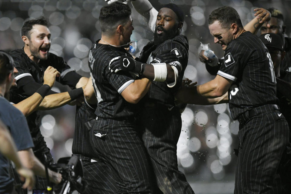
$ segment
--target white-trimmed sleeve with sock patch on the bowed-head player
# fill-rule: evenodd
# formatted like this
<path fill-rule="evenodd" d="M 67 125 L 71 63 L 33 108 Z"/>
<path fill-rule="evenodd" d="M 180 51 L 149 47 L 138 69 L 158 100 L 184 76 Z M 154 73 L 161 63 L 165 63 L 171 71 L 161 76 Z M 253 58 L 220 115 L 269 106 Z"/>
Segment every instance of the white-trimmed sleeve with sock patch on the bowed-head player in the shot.
<path fill-rule="evenodd" d="M 240 72 L 244 68 L 243 65 L 249 52 L 250 51 L 247 49 L 246 45 L 232 41 L 225 51 L 224 61 L 222 62 L 217 75 L 236 81 L 241 76 Z"/>

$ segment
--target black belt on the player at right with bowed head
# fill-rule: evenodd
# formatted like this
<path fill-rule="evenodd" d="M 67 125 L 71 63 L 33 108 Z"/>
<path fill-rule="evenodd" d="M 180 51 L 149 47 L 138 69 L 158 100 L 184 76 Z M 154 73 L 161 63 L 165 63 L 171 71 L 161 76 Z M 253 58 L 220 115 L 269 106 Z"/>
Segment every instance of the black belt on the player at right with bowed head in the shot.
<path fill-rule="evenodd" d="M 273 110 L 280 110 L 280 108 L 276 104 L 266 104 L 266 105 L 259 106 L 259 107 L 256 107 L 244 112 L 243 114 L 239 115 L 238 120 L 240 123 L 242 123 L 251 119 L 252 117 L 258 114 L 267 114 Z"/>

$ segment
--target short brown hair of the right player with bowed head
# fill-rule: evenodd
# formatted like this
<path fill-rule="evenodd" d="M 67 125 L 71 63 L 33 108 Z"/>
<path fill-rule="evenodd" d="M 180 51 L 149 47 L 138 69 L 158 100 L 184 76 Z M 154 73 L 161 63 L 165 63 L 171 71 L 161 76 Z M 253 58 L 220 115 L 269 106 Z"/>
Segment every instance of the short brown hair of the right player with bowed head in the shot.
<path fill-rule="evenodd" d="M 238 12 L 229 6 L 219 7 L 211 12 L 208 18 L 208 25 L 218 20 L 223 28 L 230 28 L 235 23 L 239 28 L 243 27 Z"/>

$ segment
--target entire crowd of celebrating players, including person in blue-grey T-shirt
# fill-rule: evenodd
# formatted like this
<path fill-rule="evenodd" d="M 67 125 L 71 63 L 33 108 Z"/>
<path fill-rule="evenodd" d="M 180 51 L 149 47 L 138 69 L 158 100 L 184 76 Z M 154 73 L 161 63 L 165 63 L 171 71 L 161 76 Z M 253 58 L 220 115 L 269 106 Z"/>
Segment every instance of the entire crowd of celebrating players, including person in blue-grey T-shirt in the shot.
<path fill-rule="evenodd" d="M 200 52 L 216 77 L 196 86 L 182 80 L 189 50 L 183 11 L 172 3 L 157 11 L 148 0 L 123 2 L 108 1 L 100 10 L 102 36 L 89 52 L 90 78 L 49 53 L 45 18 L 24 23 L 22 49 L 0 51 L 0 193 L 46 189 L 43 164 L 53 158 L 39 111 L 65 104 L 77 105 L 72 152 L 84 167 L 82 193 L 194 193 L 178 170 L 177 102 L 229 103 L 240 123 L 234 193 L 288 193 L 291 42 L 282 13 L 257 8 L 243 26 L 234 8 L 212 11 L 209 31 L 225 55 L 212 67 Z M 154 32 L 138 58 L 127 49 L 134 30 L 129 2 Z M 72 90 L 52 91 L 55 80 Z M 57 172 L 48 175 L 62 181 Z"/>

